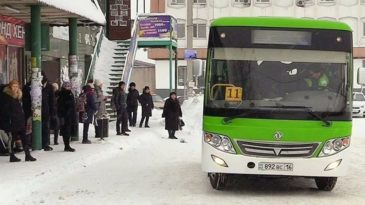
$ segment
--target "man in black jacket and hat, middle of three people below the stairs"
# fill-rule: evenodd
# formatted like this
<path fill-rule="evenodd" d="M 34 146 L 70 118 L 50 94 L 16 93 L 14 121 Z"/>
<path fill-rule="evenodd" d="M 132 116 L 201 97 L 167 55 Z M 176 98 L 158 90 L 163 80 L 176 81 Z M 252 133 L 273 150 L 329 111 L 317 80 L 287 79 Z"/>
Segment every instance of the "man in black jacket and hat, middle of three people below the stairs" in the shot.
<path fill-rule="evenodd" d="M 127 111 L 128 111 L 128 121 L 130 127 L 135 127 L 137 124 L 137 109 L 139 92 L 135 89 L 136 84 L 131 82 L 128 88 L 127 94 Z"/>

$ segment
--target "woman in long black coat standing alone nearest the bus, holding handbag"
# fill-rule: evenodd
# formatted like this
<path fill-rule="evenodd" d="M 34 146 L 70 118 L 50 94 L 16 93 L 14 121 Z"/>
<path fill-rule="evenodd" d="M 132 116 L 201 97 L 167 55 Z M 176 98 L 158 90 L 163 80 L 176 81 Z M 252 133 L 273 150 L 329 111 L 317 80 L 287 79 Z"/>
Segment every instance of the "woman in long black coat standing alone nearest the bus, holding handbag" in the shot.
<path fill-rule="evenodd" d="M 176 130 L 179 130 L 179 117 L 183 116 L 180 102 L 176 98 L 176 93 L 170 93 L 170 97 L 165 101 L 162 117 L 165 117 L 165 129 L 169 132 L 169 139 L 175 137 Z"/>

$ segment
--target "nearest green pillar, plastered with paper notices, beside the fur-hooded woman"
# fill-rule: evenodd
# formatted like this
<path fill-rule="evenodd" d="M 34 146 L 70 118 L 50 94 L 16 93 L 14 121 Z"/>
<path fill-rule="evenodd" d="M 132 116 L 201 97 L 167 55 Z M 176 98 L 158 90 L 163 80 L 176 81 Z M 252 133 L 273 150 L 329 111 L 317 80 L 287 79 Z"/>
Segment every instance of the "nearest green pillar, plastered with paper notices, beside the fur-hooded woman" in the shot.
<path fill-rule="evenodd" d="M 41 52 L 41 6 L 30 6 L 31 21 L 31 96 L 32 96 L 32 150 L 42 149 L 42 52 Z"/>

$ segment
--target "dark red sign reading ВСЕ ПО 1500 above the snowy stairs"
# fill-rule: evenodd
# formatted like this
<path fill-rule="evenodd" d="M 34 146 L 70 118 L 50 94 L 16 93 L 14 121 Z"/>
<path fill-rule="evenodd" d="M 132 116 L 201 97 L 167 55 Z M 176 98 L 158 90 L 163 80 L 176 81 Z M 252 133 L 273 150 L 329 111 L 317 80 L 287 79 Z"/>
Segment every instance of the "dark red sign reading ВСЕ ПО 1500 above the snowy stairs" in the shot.
<path fill-rule="evenodd" d="M 131 0 L 107 0 L 107 38 L 131 38 Z"/>

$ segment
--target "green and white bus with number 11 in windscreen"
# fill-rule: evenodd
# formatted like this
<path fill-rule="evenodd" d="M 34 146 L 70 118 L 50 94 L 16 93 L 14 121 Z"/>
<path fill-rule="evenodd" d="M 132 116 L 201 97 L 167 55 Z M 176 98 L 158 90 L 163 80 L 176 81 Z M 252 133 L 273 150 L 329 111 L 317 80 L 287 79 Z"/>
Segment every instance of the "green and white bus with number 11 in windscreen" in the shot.
<path fill-rule="evenodd" d="M 195 73 L 201 60 L 193 62 Z M 364 84 L 365 68 L 358 82 Z M 362 74 L 362 76 L 361 76 Z M 212 22 L 205 68 L 202 169 L 307 177 L 330 191 L 350 163 L 353 58 L 342 22 L 224 17 Z"/>

